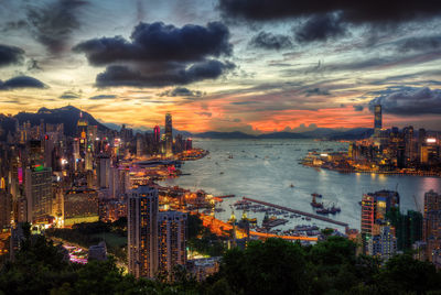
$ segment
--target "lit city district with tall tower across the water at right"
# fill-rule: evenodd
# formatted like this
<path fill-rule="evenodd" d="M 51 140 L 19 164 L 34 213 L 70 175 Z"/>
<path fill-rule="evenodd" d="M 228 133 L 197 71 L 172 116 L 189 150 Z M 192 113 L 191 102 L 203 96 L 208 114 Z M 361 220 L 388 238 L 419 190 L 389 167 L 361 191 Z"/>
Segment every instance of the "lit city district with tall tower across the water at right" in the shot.
<path fill-rule="evenodd" d="M 351 142 L 347 153 L 311 151 L 304 164 L 341 172 L 441 175 L 440 134 L 413 127 L 383 128 L 381 106 L 375 106 L 374 133 Z"/>

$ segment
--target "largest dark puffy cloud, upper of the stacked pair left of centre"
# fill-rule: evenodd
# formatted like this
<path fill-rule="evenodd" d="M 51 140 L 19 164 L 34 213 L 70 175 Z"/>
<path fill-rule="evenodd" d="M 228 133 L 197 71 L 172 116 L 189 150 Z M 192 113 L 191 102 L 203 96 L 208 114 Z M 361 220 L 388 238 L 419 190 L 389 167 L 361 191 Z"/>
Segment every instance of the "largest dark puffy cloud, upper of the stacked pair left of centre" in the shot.
<path fill-rule="evenodd" d="M 195 62 L 206 56 L 230 55 L 229 31 L 219 22 L 207 26 L 187 24 L 183 28 L 162 22 L 140 23 L 130 36 L 93 39 L 79 43 L 75 52 L 85 53 L 92 65 L 117 62 Z"/>

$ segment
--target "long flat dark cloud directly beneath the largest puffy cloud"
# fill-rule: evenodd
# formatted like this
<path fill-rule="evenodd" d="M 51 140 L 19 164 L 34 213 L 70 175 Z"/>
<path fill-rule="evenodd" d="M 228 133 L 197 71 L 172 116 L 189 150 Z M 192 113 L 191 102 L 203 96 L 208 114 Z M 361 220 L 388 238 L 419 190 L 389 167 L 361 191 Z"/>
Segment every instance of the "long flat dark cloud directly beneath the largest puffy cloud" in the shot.
<path fill-rule="evenodd" d="M 141 72 L 128 66 L 112 65 L 98 74 L 98 87 L 133 86 L 133 87 L 162 87 L 168 85 L 185 85 L 204 79 L 215 79 L 235 66 L 219 61 L 205 61 L 185 68 L 185 64 L 175 65 L 159 72 Z"/>

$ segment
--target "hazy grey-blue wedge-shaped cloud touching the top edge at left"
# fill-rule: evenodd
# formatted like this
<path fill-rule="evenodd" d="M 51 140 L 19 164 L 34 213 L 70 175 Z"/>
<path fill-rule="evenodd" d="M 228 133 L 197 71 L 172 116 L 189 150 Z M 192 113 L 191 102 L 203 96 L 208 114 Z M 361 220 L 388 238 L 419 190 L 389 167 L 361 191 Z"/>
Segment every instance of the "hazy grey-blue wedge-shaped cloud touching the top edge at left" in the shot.
<path fill-rule="evenodd" d="M 28 7 L 28 22 L 35 39 L 51 53 L 65 50 L 72 33 L 80 26 L 78 13 L 88 4 L 82 0 L 55 0 L 49 4 Z"/>

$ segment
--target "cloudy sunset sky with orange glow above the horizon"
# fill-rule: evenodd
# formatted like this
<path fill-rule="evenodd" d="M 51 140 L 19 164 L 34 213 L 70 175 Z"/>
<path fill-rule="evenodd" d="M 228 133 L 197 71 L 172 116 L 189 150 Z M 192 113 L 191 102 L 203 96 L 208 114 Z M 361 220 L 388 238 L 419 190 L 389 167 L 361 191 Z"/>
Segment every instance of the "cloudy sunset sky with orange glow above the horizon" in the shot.
<path fill-rule="evenodd" d="M 372 128 L 380 103 L 441 130 L 439 28 L 430 0 L 0 0 L 0 108 L 261 133 Z"/>

